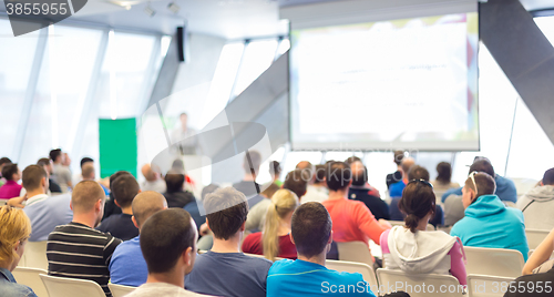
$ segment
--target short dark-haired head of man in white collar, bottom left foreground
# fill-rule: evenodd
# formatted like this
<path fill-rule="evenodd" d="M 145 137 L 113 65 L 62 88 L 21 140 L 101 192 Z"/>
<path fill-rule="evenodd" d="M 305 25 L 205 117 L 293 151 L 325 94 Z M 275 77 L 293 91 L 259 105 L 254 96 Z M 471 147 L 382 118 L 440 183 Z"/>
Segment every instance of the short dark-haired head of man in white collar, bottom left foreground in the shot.
<path fill-rule="evenodd" d="M 187 248 L 195 248 L 196 228 L 183 208 L 157 212 L 141 228 L 141 250 L 148 273 L 167 273 Z"/>

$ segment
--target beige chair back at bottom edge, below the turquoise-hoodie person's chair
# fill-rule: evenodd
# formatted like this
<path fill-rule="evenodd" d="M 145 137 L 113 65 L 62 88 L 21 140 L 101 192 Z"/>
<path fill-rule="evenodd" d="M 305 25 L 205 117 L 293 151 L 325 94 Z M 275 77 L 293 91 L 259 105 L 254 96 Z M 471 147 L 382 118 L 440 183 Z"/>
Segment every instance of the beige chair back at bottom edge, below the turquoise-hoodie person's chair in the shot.
<path fill-rule="evenodd" d="M 503 297 L 510 288 L 512 277 L 468 275 L 469 297 Z"/>

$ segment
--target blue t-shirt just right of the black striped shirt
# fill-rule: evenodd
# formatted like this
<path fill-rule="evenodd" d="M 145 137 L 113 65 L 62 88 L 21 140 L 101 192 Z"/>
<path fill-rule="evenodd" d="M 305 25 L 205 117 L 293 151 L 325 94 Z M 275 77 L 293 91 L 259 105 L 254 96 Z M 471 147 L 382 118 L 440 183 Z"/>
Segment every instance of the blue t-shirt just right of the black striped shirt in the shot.
<path fill-rule="evenodd" d="M 148 267 L 142 255 L 140 236 L 115 248 L 107 269 L 112 284 L 138 287 L 146 283 Z"/>

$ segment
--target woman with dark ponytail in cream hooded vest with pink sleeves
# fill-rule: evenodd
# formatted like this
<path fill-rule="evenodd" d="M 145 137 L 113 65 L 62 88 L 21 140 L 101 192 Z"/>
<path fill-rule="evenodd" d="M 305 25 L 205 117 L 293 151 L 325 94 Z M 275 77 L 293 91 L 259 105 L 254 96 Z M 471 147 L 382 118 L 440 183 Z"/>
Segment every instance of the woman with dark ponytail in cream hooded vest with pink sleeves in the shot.
<path fill-rule="evenodd" d="M 428 181 L 408 183 L 399 202 L 407 214 L 404 226 L 394 226 L 381 235 L 384 267 L 409 274 L 451 274 L 466 285 L 462 243 L 442 231 L 427 231 L 437 212 L 435 203 Z"/>

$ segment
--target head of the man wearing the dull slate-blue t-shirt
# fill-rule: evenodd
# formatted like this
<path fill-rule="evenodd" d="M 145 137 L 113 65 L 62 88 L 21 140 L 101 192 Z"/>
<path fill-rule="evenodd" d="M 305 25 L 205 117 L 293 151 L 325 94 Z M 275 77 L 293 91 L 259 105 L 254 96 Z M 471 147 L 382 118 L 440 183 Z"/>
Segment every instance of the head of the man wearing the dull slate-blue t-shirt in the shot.
<path fill-rule="evenodd" d="M 217 239 L 233 237 L 246 222 L 248 202 L 246 196 L 234 187 L 223 187 L 204 198 L 204 209 L 209 229 Z"/>

